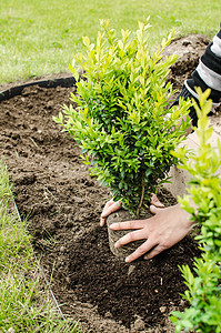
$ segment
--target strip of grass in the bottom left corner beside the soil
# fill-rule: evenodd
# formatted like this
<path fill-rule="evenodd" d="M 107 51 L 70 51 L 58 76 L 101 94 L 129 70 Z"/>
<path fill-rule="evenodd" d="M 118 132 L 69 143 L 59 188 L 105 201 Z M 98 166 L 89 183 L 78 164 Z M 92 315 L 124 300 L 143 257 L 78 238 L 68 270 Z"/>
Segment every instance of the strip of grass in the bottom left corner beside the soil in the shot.
<path fill-rule="evenodd" d="M 42 272 L 26 221 L 13 210 L 10 189 L 7 169 L 0 162 L 0 332 L 82 332 L 76 322 L 62 321 L 49 289 L 42 287 Z"/>

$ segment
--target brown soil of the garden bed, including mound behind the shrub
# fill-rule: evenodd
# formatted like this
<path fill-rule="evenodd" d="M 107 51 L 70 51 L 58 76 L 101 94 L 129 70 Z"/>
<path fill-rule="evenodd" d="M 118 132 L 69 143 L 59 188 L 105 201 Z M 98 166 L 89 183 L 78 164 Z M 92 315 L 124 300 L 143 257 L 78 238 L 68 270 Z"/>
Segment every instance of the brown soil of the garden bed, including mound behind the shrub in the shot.
<path fill-rule="evenodd" d="M 170 80 L 180 89 L 208 39 L 174 41 L 181 57 Z M 185 290 L 179 264 L 199 255 L 189 235 L 150 261 L 127 264 L 109 249 L 99 226 L 107 189 L 91 179 L 80 149 L 52 121 L 74 88 L 26 88 L 0 103 L 0 152 L 14 183 L 16 202 L 28 216 L 33 246 L 66 316 L 87 332 L 173 332 L 168 314 L 182 310 Z M 50 279 L 52 276 L 52 279 Z"/>

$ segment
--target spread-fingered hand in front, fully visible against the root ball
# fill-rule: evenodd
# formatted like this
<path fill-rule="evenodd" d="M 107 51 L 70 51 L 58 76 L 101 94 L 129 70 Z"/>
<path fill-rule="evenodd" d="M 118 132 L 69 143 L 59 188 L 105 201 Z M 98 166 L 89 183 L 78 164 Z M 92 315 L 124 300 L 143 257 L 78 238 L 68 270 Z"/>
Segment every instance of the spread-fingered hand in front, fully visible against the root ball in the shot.
<path fill-rule="evenodd" d="M 180 208 L 180 204 L 169 208 L 151 205 L 150 211 L 154 215 L 148 220 L 134 220 L 110 225 L 111 230 L 135 230 L 122 236 L 115 243 L 117 248 L 138 240 L 145 240 L 141 246 L 125 259 L 127 262 L 131 262 L 141 255 L 144 255 L 144 259 L 151 259 L 173 246 L 189 233 L 193 224 L 189 221 L 189 214 Z"/>

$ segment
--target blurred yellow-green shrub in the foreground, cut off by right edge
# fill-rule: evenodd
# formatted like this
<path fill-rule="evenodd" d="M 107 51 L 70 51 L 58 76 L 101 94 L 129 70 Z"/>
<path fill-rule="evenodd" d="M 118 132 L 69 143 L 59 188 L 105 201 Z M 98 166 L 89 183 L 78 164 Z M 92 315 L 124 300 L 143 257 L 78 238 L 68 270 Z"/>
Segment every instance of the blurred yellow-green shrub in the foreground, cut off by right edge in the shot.
<path fill-rule="evenodd" d="M 194 272 L 188 265 L 181 268 L 188 286 L 183 297 L 189 301 L 190 307 L 183 313 L 173 312 L 172 322 L 177 332 L 183 329 L 185 332 L 221 332 L 221 142 L 218 140 L 217 149 L 210 143 L 213 129 L 207 117 L 212 105 L 210 100 L 207 101 L 209 93 L 198 90 L 198 153 L 187 160 L 185 149 L 179 148 L 175 152 L 182 162 L 181 168 L 192 175 L 189 195 L 179 201 L 201 228 L 195 239 L 202 249 L 202 256 L 194 261 Z M 197 209 L 190 206 L 190 200 Z"/>

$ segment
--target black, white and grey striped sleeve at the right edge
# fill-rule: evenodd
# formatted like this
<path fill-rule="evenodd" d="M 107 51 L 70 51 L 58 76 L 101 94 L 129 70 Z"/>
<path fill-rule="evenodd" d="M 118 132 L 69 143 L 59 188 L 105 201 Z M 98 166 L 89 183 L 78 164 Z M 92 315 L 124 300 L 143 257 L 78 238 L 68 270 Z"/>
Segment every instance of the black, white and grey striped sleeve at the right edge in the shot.
<path fill-rule="evenodd" d="M 187 100 L 194 98 L 198 101 L 198 94 L 194 87 L 200 87 L 202 91 L 211 89 L 210 99 L 212 100 L 212 109 L 220 105 L 221 100 L 221 30 L 213 38 L 212 42 L 207 47 L 205 52 L 199 60 L 197 69 L 192 73 L 192 78 L 188 79 L 173 102 L 178 104 L 179 98 Z M 212 110 L 211 110 L 212 111 Z M 198 118 L 194 108 L 190 108 L 190 117 L 192 124 L 197 125 Z"/>

